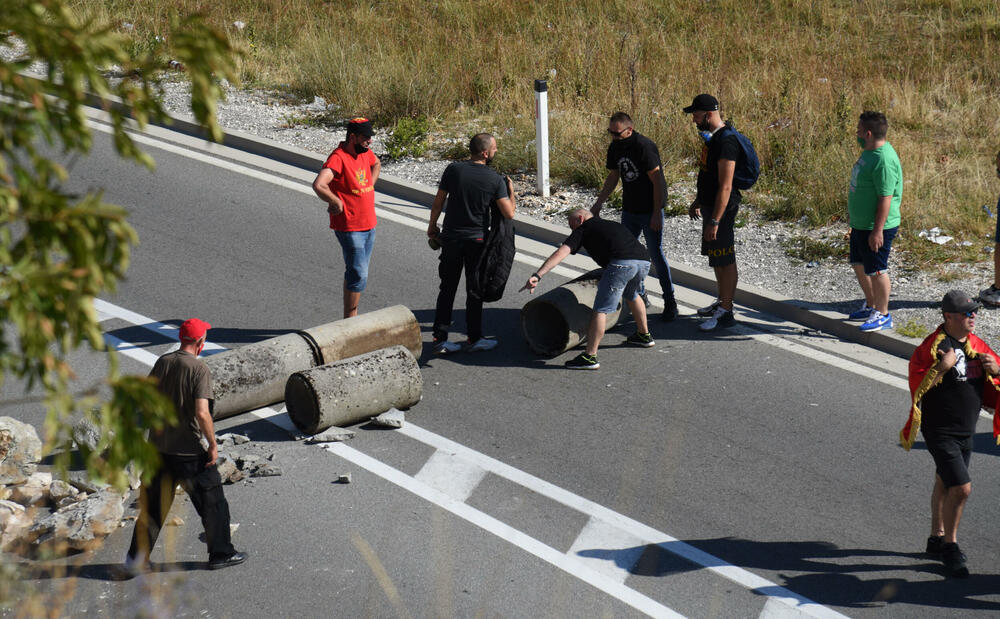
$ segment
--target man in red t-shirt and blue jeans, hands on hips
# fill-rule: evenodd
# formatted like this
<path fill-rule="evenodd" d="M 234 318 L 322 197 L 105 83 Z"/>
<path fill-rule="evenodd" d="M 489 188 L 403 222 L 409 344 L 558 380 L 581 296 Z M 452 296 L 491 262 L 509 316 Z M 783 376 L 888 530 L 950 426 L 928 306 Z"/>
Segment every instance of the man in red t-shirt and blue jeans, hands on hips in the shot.
<path fill-rule="evenodd" d="M 344 318 L 358 315 L 375 244 L 375 181 L 382 164 L 370 150 L 373 134 L 370 120 L 352 118 L 347 138 L 313 181 L 313 191 L 327 204 L 330 228 L 344 254 Z"/>

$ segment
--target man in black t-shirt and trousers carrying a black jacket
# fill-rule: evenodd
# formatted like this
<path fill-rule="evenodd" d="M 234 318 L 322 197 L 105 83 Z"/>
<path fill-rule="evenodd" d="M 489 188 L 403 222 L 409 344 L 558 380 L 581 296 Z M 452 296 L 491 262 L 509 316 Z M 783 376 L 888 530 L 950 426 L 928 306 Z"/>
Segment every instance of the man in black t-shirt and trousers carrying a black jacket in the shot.
<path fill-rule="evenodd" d="M 465 269 L 465 322 L 468 327 L 469 350 L 490 350 L 497 340 L 483 337 L 483 301 L 470 294 L 470 277 L 483 253 L 490 227 L 490 206 L 497 205 L 501 215 L 514 218 L 514 185 L 489 167 L 497 152 L 497 141 L 489 133 L 480 133 L 469 141 L 471 157 L 456 161 L 445 168 L 438 192 L 431 206 L 427 237 L 441 244 L 438 275 L 441 287 L 434 310 L 434 352 L 448 354 L 461 350 L 458 342 L 448 341 L 451 312 L 455 304 L 458 282 Z M 441 211 L 444 231 L 437 225 Z"/>

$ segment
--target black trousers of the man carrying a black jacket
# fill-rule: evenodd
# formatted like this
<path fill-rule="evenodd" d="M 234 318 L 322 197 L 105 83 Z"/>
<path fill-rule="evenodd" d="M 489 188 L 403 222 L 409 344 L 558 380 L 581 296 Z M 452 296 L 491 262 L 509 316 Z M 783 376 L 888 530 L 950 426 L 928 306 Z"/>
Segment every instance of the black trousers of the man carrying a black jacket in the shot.
<path fill-rule="evenodd" d="M 483 336 L 483 302 L 469 294 L 469 275 L 479 264 L 479 256 L 483 253 L 483 242 L 475 239 L 447 240 L 441 244 L 441 257 L 438 264 L 438 275 L 441 276 L 441 289 L 438 292 L 437 307 L 434 311 L 434 339 L 448 339 L 448 327 L 451 326 L 451 309 L 455 305 L 455 293 L 458 282 L 465 270 L 465 322 L 470 342 L 475 342 Z"/>

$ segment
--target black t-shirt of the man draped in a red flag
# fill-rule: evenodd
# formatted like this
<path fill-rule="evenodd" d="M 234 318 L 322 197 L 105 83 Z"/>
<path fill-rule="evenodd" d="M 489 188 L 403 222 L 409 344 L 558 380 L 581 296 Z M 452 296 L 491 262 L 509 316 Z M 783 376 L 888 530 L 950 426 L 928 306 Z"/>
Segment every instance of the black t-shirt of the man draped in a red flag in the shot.
<path fill-rule="evenodd" d="M 972 435 L 983 405 L 983 364 L 978 357 L 968 359 L 962 342 L 945 334 L 938 344 L 937 357 L 940 359 L 949 349 L 955 350 L 957 360 L 941 382 L 924 395 L 920 427 L 929 432 Z"/>

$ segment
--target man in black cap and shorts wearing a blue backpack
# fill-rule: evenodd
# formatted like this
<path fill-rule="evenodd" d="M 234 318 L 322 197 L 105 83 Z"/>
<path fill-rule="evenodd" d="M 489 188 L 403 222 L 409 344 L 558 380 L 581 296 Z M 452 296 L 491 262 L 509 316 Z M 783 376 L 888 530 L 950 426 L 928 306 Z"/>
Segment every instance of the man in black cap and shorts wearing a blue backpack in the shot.
<path fill-rule="evenodd" d="M 715 271 L 718 299 L 698 310 L 706 317 L 699 329 L 714 331 L 736 323 L 733 315 L 733 298 L 736 296 L 735 224 L 740 206 L 740 190 L 733 185 L 736 164 L 744 157 L 743 148 L 719 115 L 719 101 L 712 95 L 698 95 L 685 114 L 698 127 L 705 146 L 698 172 L 698 193 L 688 214 L 691 219 L 702 218 L 701 254 L 708 256 L 708 265 Z"/>

